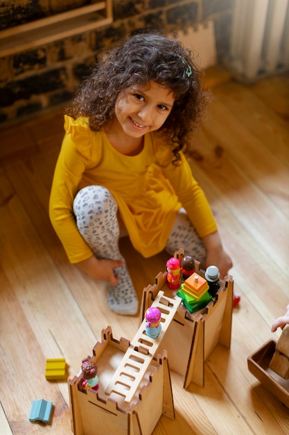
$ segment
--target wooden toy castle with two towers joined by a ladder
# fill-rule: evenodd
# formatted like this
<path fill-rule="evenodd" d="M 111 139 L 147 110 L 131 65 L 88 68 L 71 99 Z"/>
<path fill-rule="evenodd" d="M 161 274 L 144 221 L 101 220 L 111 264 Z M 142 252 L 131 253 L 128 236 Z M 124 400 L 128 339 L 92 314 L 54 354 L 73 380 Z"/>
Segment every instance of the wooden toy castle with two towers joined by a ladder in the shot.
<path fill-rule="evenodd" d="M 175 254 L 179 260 L 183 249 Z M 204 278 L 200 263 L 195 272 Z M 133 340 L 102 331 L 91 359 L 100 374 L 97 391 L 82 387 L 83 373 L 69 379 L 71 426 L 75 435 L 150 435 L 162 414 L 175 418 L 170 370 L 204 385 L 204 361 L 218 343 L 230 347 L 233 279 L 220 281 L 220 289 L 202 310 L 189 313 L 182 299 L 167 286 L 166 272 L 143 290 L 140 327 Z M 146 335 L 145 313 L 161 311 L 161 332 Z M 168 368 L 168 361 L 170 370 Z"/>

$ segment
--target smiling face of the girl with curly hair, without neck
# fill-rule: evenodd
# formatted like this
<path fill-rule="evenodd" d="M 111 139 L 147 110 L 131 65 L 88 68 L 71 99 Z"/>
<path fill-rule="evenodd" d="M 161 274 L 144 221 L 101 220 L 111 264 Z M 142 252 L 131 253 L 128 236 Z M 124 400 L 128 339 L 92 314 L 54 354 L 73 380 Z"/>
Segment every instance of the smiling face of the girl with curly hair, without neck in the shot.
<path fill-rule="evenodd" d="M 154 81 L 134 85 L 121 92 L 116 100 L 115 122 L 131 138 L 158 130 L 173 108 L 175 98 L 170 88 Z"/>

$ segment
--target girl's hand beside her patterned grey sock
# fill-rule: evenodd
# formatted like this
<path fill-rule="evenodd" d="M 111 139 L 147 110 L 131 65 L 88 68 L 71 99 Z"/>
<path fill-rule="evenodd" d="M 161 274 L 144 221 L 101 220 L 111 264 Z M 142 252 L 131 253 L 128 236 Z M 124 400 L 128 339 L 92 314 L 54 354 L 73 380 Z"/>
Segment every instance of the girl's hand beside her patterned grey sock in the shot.
<path fill-rule="evenodd" d="M 85 272 L 94 281 L 108 281 L 112 286 L 119 282 L 119 277 L 114 274 L 114 268 L 123 265 L 119 260 L 98 260 L 94 255 L 77 263 L 78 268 Z"/>

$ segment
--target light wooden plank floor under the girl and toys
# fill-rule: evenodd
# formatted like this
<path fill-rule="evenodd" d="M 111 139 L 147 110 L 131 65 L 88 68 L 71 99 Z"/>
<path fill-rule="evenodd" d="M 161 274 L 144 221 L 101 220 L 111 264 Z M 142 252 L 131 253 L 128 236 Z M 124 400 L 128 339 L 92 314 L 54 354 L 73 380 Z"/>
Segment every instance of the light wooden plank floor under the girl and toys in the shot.
<path fill-rule="evenodd" d="M 242 299 L 231 350 L 218 345 L 209 356 L 204 388 L 184 391 L 171 373 L 176 419 L 161 417 L 153 434 L 288 434 L 289 409 L 249 372 L 247 356 L 278 339 L 270 326 L 289 302 L 289 76 L 227 81 L 213 93 L 191 163 Z M 69 265 L 53 232 L 48 201 L 62 135 L 60 110 L 0 131 L 2 435 L 70 434 L 67 382 L 46 381 L 46 359 L 64 357 L 72 377 L 107 325 L 118 339 L 139 327 L 137 316 L 107 309 L 105 286 Z M 121 249 L 141 297 L 168 256 L 144 260 L 126 239 Z M 28 420 L 41 398 L 54 405 L 49 425 Z"/>

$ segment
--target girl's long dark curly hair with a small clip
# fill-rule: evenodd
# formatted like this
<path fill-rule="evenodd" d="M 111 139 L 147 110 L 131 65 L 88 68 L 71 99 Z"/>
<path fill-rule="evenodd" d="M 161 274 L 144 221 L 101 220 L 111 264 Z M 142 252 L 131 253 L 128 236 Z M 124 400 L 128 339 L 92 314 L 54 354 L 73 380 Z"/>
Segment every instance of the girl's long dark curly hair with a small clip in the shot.
<path fill-rule="evenodd" d="M 173 145 L 177 162 L 207 106 L 200 68 L 179 40 L 160 33 L 131 35 L 92 66 L 66 113 L 74 119 L 88 117 L 89 128 L 98 131 L 114 117 L 116 99 L 123 90 L 150 81 L 173 91 L 173 109 L 159 131 Z"/>

